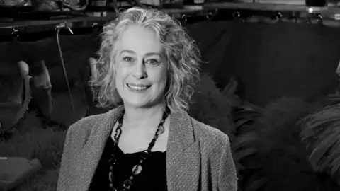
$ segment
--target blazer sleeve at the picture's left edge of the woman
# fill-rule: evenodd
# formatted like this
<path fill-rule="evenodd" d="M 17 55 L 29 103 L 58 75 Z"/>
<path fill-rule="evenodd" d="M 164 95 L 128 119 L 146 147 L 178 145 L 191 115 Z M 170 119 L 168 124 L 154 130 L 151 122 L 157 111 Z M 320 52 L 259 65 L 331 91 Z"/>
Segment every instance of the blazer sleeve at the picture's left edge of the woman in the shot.
<path fill-rule="evenodd" d="M 69 177 L 71 174 L 69 170 L 72 170 L 72 163 L 75 152 L 74 145 L 72 144 L 72 128 L 67 130 L 66 139 L 64 143 L 64 149 L 62 151 L 62 161 L 60 163 L 60 172 L 57 182 L 57 191 L 68 190 L 71 185 L 69 184 Z"/>

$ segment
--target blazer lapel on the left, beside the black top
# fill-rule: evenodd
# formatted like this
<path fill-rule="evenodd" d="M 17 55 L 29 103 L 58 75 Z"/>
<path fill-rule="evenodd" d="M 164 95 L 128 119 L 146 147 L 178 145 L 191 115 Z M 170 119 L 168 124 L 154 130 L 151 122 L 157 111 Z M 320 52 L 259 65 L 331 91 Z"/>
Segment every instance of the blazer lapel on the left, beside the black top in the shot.
<path fill-rule="evenodd" d="M 77 190 L 89 190 L 89 185 L 103 154 L 106 141 L 111 135 L 113 125 L 118 120 L 122 109 L 123 107 L 120 106 L 115 110 L 106 112 L 103 116 L 103 121 L 96 122 L 97 125 L 94 125 L 94 128 L 91 129 L 89 139 L 78 155 L 79 182 L 75 184 L 77 185 Z"/>

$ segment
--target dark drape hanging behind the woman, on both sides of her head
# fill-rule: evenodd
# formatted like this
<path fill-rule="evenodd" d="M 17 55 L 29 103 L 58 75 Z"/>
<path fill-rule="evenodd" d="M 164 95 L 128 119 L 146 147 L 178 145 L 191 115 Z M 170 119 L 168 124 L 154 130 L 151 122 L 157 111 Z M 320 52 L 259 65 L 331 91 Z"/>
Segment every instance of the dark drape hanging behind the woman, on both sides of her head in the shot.
<path fill-rule="evenodd" d="M 185 24 L 183 24 L 185 25 Z M 223 88 L 231 76 L 242 83 L 242 96 L 264 105 L 282 96 L 314 99 L 337 86 L 339 29 L 303 23 L 204 21 L 185 25 L 202 53 L 203 71 Z M 61 36 L 70 80 L 86 68 L 98 50 L 98 34 Z M 53 88 L 66 91 L 55 36 L 35 42 L 0 42 L 0 75 L 16 70 L 16 62 L 44 59 Z"/>

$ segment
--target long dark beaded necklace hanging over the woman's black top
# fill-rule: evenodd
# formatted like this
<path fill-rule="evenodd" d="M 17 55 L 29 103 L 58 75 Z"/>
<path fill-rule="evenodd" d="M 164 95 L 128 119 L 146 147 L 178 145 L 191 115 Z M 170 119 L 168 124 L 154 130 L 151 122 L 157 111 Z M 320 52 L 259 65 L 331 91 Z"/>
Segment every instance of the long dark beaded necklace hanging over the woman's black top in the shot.
<path fill-rule="evenodd" d="M 113 150 L 118 148 L 118 141 L 120 134 L 122 134 L 122 125 L 123 125 L 123 116 L 124 116 L 125 110 L 120 114 L 120 117 L 118 118 L 118 125 L 117 128 L 115 129 L 115 136 L 113 137 Z M 138 164 L 136 164 L 131 171 L 130 177 L 123 182 L 123 187 L 121 187 L 120 191 L 125 191 L 129 190 L 131 185 L 132 185 L 132 180 L 135 178 L 135 175 L 138 175 L 142 172 L 142 163 L 149 158 L 151 154 L 151 150 L 154 147 L 154 143 L 156 142 L 157 138 L 159 137 L 160 134 L 164 132 L 164 122 L 166 120 L 166 117 L 168 117 L 170 113 L 170 109 L 168 107 L 165 108 L 163 117 L 161 122 L 159 122 L 159 125 L 157 127 L 157 130 L 154 134 L 154 137 L 152 138 L 152 141 L 149 143 L 149 147 L 142 151 L 142 154 L 140 155 L 140 161 Z M 113 166 L 115 166 L 116 162 L 116 157 L 115 154 L 111 154 L 111 158 L 108 161 L 110 164 L 110 172 L 108 174 L 108 179 L 110 182 L 110 191 L 117 191 L 118 189 L 113 186 Z"/>

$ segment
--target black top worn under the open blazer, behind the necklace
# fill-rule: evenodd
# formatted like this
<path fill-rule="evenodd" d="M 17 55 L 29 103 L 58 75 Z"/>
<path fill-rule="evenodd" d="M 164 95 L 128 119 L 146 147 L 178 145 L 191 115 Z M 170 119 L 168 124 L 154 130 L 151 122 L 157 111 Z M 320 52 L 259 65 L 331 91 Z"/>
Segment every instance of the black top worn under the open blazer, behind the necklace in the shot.
<path fill-rule="evenodd" d="M 90 191 L 109 190 L 109 163 L 108 160 L 113 151 L 113 139 L 108 138 L 105 149 L 98 163 L 96 173 L 89 187 Z M 123 186 L 124 180 L 127 180 L 131 173 L 132 167 L 138 164 L 140 160 L 140 152 L 132 154 L 124 154 L 118 147 L 115 151 L 117 161 L 113 166 L 114 180 L 113 185 L 117 190 Z M 139 175 L 135 175 L 132 180 L 130 191 L 133 190 L 157 190 L 166 191 L 166 152 L 154 151 L 147 161 L 142 163 L 142 171 Z"/>

